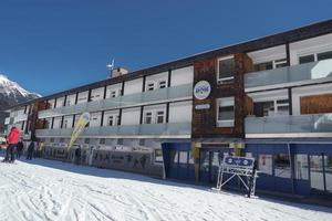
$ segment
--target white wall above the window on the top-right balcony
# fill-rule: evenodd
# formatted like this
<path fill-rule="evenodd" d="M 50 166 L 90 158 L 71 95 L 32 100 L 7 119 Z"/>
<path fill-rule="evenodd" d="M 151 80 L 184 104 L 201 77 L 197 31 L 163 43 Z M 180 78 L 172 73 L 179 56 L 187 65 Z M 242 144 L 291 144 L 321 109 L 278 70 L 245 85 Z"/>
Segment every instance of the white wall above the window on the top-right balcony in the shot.
<path fill-rule="evenodd" d="M 332 51 L 332 33 L 290 43 L 291 65 L 299 64 L 299 56 Z"/>

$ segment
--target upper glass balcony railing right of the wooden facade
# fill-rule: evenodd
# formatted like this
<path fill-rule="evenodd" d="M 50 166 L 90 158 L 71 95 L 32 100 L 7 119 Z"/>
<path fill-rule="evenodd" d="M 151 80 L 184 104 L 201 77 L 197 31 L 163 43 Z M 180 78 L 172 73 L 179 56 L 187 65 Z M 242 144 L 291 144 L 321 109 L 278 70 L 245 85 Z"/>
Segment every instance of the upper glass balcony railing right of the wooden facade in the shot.
<path fill-rule="evenodd" d="M 276 70 L 251 72 L 245 74 L 245 88 L 252 91 L 252 87 L 273 88 L 290 86 L 294 84 L 305 84 L 304 81 L 322 82 L 332 80 L 332 59 L 307 64 L 286 66 Z"/>

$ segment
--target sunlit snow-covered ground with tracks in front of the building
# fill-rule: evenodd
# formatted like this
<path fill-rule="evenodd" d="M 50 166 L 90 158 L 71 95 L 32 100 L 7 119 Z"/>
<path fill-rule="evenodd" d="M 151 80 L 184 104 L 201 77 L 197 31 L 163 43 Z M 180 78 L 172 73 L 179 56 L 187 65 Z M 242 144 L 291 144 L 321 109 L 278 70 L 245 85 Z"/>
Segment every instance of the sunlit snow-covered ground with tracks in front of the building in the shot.
<path fill-rule="evenodd" d="M 332 220 L 332 209 L 59 161 L 0 164 L 0 220 Z"/>

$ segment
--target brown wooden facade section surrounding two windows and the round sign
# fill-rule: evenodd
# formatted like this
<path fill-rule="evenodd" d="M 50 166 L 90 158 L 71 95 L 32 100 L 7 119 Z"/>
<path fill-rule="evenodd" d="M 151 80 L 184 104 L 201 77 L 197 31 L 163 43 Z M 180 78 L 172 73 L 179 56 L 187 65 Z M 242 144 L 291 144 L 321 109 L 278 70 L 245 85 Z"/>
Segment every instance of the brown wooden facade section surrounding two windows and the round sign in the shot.
<path fill-rule="evenodd" d="M 243 138 L 243 119 L 248 114 L 248 108 L 243 92 L 243 74 L 252 70 L 252 62 L 245 53 L 234 54 L 235 73 L 230 83 L 217 83 L 218 57 L 197 61 L 194 63 L 194 85 L 199 81 L 207 81 L 211 86 L 211 93 L 206 99 L 193 102 L 193 138 L 221 137 L 221 138 Z M 217 126 L 217 99 L 222 97 L 235 97 L 235 126 Z M 250 103 L 249 103 L 250 104 Z M 209 108 L 197 109 L 197 105 L 209 105 Z"/>

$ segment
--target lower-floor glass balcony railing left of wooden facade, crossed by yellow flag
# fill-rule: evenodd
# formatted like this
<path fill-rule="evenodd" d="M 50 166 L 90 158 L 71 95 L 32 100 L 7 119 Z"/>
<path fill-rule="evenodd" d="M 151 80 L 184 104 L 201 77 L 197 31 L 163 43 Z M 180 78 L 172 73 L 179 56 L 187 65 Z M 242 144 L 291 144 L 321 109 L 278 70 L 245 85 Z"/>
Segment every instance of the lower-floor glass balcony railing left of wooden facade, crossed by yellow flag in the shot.
<path fill-rule="evenodd" d="M 37 137 L 70 137 L 72 128 L 66 129 L 37 129 Z M 86 127 L 81 137 L 149 137 L 149 138 L 190 138 L 190 123 L 168 123 L 148 125 L 124 125 L 105 127 Z"/>

